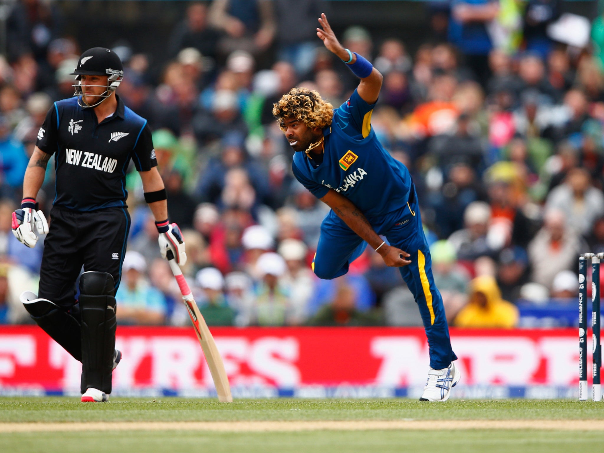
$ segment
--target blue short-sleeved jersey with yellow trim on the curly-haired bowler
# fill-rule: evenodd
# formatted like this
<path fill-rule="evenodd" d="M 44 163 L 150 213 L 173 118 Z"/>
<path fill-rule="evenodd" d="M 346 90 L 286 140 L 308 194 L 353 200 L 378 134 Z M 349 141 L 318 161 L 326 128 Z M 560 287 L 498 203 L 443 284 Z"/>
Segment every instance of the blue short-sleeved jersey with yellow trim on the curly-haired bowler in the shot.
<path fill-rule="evenodd" d="M 371 129 L 374 105 L 362 100 L 355 89 L 333 113 L 331 126 L 323 130 L 323 162 L 315 167 L 305 152 L 297 152 L 292 170 L 316 198 L 333 188 L 350 199 L 376 228 L 406 207 L 411 176 Z"/>

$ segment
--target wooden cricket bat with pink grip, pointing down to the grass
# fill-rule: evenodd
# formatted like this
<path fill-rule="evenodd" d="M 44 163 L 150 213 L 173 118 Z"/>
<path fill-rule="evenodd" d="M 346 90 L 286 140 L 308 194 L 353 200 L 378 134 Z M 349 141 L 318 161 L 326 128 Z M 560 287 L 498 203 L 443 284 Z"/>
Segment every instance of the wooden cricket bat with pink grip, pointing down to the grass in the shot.
<path fill-rule="evenodd" d="M 205 361 L 208 362 L 208 368 L 212 374 L 214 385 L 216 386 L 216 393 L 218 394 L 218 400 L 222 403 L 232 403 L 233 396 L 231 396 L 231 386 L 228 383 L 228 377 L 226 376 L 225 365 L 222 363 L 222 357 L 214 342 L 214 337 L 208 329 L 208 325 L 205 323 L 204 316 L 199 312 L 197 303 L 193 299 L 191 289 L 188 287 L 187 281 L 184 275 L 182 275 L 181 268 L 176 264 L 176 260 L 168 260 L 170 269 L 178 282 L 178 287 L 181 289 L 182 301 L 187 307 L 187 312 L 193 323 L 193 328 L 201 344 L 201 349 L 204 350 Z"/>

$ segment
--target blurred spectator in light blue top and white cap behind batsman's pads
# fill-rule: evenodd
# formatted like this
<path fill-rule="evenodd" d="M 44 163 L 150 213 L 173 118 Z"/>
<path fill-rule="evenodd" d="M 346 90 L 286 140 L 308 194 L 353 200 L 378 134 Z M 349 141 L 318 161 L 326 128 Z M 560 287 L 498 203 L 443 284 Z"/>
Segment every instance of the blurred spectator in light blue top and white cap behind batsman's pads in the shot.
<path fill-rule="evenodd" d="M 128 251 L 124 256 L 124 282 L 115 294 L 117 319 L 120 324 L 162 324 L 167 311 L 165 297 L 150 286 L 143 255 Z"/>

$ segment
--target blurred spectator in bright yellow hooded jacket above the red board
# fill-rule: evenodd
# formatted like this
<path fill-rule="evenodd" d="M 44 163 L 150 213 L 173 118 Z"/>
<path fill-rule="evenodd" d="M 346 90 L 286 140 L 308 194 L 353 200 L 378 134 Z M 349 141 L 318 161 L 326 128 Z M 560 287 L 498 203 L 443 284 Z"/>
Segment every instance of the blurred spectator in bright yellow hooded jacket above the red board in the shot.
<path fill-rule="evenodd" d="M 453 321 L 457 327 L 504 327 L 518 324 L 518 309 L 501 298 L 495 278 L 482 275 L 470 282 L 469 302 Z"/>

